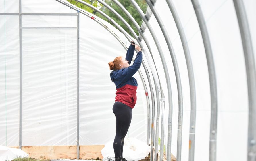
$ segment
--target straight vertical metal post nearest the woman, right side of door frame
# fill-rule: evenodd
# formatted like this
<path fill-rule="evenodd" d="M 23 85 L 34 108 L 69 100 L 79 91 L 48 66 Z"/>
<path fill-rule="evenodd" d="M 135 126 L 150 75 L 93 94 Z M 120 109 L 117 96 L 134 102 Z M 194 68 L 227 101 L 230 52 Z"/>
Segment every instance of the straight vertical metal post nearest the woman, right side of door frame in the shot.
<path fill-rule="evenodd" d="M 79 11 L 77 11 L 77 159 L 79 159 Z"/>

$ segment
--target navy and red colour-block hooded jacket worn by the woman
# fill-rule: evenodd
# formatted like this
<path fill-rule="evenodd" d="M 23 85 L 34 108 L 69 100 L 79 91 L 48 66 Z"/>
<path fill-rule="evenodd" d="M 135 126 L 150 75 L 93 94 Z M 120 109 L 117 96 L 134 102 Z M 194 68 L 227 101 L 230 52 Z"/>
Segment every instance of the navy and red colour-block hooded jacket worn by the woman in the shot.
<path fill-rule="evenodd" d="M 126 60 L 131 64 L 132 57 L 134 55 L 135 46 L 130 45 L 126 53 Z M 116 84 L 116 100 L 115 102 L 122 102 L 129 106 L 130 108 L 134 108 L 137 96 L 137 80 L 132 77 L 140 68 L 142 61 L 142 52 L 139 51 L 136 58 L 134 59 L 133 65 L 128 68 L 123 68 L 120 70 L 114 69 L 110 73 L 110 78 L 112 82 Z"/>

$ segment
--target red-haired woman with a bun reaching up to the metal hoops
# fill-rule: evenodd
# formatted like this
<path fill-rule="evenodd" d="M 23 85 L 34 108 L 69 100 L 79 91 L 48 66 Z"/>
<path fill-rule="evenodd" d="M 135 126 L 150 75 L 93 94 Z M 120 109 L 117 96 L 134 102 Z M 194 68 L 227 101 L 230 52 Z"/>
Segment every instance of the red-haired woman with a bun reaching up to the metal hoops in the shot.
<path fill-rule="evenodd" d="M 132 41 L 127 50 L 126 57 L 116 57 L 109 62 L 111 80 L 116 84 L 116 100 L 113 105 L 113 113 L 116 116 L 116 137 L 114 140 L 114 152 L 116 161 L 126 161 L 123 158 L 124 137 L 132 120 L 132 109 L 137 100 L 137 81 L 132 77 L 140 68 L 142 61 L 142 49 Z M 130 66 L 134 50 L 138 54 L 133 65 Z"/>

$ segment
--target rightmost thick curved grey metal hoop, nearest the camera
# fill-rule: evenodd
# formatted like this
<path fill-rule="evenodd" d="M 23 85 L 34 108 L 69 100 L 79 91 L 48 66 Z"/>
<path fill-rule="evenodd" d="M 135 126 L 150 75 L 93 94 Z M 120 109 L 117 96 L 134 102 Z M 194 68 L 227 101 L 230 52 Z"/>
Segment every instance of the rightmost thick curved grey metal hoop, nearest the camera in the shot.
<path fill-rule="evenodd" d="M 248 88 L 248 142 L 247 160 L 256 160 L 256 69 L 251 40 L 250 28 L 247 20 L 245 6 L 241 0 L 233 0 L 236 9 L 236 16 L 240 28 L 243 51 L 245 56 L 245 67 Z"/>

